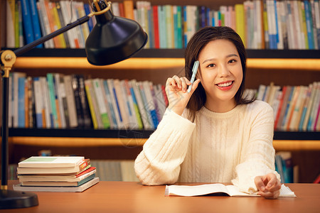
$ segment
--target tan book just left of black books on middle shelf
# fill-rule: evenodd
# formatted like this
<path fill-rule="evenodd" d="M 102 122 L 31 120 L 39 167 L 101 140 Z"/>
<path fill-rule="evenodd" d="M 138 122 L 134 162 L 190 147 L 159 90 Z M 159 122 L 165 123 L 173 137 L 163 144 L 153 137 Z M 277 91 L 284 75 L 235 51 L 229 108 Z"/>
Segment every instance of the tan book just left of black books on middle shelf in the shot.
<path fill-rule="evenodd" d="M 73 92 L 71 75 L 64 75 L 63 80 L 65 82 L 65 97 L 67 98 L 69 125 L 70 128 L 74 128 L 78 126 L 78 116 L 75 107 L 75 94 Z"/>

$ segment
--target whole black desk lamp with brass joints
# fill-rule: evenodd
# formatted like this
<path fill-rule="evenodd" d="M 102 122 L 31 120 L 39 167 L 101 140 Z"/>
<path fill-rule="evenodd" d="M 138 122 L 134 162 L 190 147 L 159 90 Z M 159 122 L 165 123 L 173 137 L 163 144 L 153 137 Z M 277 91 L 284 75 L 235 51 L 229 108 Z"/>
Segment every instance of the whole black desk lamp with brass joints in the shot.
<path fill-rule="evenodd" d="M 87 60 L 92 65 L 111 65 L 113 63 L 132 57 L 141 50 L 147 41 L 139 23 L 136 21 L 117 17 L 112 14 L 111 2 L 105 0 L 93 0 L 92 13 L 79 18 L 73 23 L 60 28 L 38 40 L 29 43 L 14 51 L 4 50 L 0 52 L 0 64 L 2 75 L 2 124 L 1 124 L 1 194 L 0 209 L 15 209 L 33 207 L 38 205 L 38 197 L 31 192 L 18 192 L 8 190 L 8 108 L 9 108 L 9 72 L 16 62 L 16 56 L 42 44 L 47 40 L 64 33 L 75 26 L 89 21 L 95 16 L 97 23 L 85 42 Z"/>

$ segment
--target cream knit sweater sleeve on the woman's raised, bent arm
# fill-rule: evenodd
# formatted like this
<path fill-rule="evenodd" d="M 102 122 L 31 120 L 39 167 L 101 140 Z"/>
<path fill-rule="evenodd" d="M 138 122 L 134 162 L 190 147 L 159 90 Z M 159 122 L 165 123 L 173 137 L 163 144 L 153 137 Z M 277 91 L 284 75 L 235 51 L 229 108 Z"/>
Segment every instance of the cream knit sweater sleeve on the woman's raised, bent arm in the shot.
<path fill-rule="evenodd" d="M 196 124 L 166 109 L 156 131 L 144 143 L 134 163 L 137 178 L 144 185 L 173 184 Z"/>

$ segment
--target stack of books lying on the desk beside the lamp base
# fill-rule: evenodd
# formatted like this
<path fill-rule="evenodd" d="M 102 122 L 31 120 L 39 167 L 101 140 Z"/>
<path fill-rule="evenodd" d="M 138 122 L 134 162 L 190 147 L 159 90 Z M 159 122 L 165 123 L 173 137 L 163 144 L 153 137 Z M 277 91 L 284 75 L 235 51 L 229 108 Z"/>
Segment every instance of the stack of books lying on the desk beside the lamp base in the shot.
<path fill-rule="evenodd" d="M 18 163 L 19 184 L 14 190 L 33 192 L 82 192 L 99 182 L 96 168 L 82 156 L 31 157 Z"/>

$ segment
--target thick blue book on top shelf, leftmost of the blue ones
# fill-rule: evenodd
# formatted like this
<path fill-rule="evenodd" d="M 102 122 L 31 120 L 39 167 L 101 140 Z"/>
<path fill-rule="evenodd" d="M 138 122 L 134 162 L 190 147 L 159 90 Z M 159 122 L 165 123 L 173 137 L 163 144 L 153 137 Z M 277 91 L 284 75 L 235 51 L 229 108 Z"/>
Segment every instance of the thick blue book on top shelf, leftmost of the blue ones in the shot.
<path fill-rule="evenodd" d="M 28 0 L 21 0 L 23 32 L 25 35 L 26 44 L 33 42 L 33 23 L 31 19 L 31 9 Z"/>

